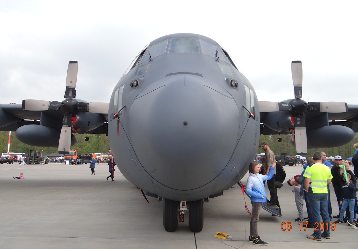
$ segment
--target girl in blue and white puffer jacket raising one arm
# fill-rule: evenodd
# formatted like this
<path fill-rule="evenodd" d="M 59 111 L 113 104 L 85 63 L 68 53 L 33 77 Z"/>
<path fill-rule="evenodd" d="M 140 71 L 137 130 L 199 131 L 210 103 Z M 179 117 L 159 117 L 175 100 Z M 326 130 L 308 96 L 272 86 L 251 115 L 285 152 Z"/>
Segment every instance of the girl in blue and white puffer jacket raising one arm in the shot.
<path fill-rule="evenodd" d="M 270 167 L 269 174 L 258 174 L 260 171 L 260 164 L 258 162 L 251 162 L 248 168 L 250 176 L 247 179 L 246 193 L 251 196 L 252 204 L 252 216 L 250 221 L 250 237 L 249 241 L 252 241 L 254 245 L 267 245 L 267 242 L 262 241 L 258 236 L 258 216 L 262 208 L 262 203 L 266 202 L 266 191 L 263 181 L 268 181 L 274 176 L 274 167 L 276 161 L 274 161 Z"/>

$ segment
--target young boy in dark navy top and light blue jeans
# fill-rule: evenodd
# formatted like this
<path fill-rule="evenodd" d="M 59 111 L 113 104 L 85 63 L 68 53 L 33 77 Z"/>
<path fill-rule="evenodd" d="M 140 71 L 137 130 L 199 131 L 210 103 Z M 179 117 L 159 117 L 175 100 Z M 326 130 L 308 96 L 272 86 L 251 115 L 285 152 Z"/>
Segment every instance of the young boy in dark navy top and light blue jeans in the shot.
<path fill-rule="evenodd" d="M 349 182 L 350 174 L 347 173 L 347 179 L 344 179 L 346 183 L 342 184 L 341 194 L 340 194 L 340 214 L 339 220 L 334 221 L 336 224 L 343 223 L 343 215 L 344 211 L 349 207 L 349 221 L 347 220 L 348 226 L 352 226 L 354 229 L 357 229 L 357 226 L 353 225 L 353 217 L 354 217 L 354 204 L 355 204 L 355 186 Z"/>

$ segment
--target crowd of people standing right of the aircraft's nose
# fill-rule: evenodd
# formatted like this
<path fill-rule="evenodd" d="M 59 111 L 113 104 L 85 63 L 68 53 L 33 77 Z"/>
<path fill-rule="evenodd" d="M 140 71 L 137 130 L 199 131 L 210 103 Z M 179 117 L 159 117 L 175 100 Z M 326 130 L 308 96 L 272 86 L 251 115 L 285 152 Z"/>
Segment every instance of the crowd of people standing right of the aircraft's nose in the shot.
<path fill-rule="evenodd" d="M 262 142 L 260 145 L 265 151 L 262 157 L 262 166 L 257 161 L 251 162 L 249 166 L 250 176 L 247 179 L 246 192 L 251 197 L 252 217 L 250 221 L 249 241 L 255 245 L 267 245 L 258 235 L 258 217 L 263 203 L 266 202 L 265 181 L 270 191 L 270 200 L 267 198 L 267 206 L 277 206 L 281 209 L 277 197 L 277 188 L 282 186 L 286 173 L 280 165 L 276 163 L 275 154 L 270 150 L 269 143 Z M 337 219 L 335 224 L 347 223 L 354 229 L 358 228 L 356 221 L 356 211 L 358 210 L 356 192 L 357 171 L 358 171 L 358 143 L 354 145 L 355 157 L 357 158 L 357 168 L 354 173 L 349 170 L 350 163 L 342 161 L 342 157 L 337 155 L 334 158 L 334 165 L 326 161 L 325 152 L 316 151 L 312 157 L 308 157 L 303 165 L 301 174 L 289 179 L 287 183 L 293 186 L 295 203 L 298 218 L 295 222 L 306 221 L 306 228 L 314 228 L 317 224 L 327 224 L 323 230 L 314 229 L 313 234 L 308 234 L 308 239 L 321 241 L 321 237 L 330 239 L 330 221 Z M 354 157 L 352 158 L 354 165 Z M 331 167 L 332 166 L 332 167 Z M 354 165 L 356 166 L 356 165 Z M 280 170 L 282 168 L 282 170 Z M 356 170 L 357 169 L 357 170 Z M 339 214 L 332 216 L 332 204 L 330 201 L 329 186 L 332 183 L 335 196 L 338 201 Z M 304 218 L 304 201 L 308 217 Z M 272 214 L 274 215 L 274 214 Z M 333 222 L 333 221 L 332 221 Z"/>

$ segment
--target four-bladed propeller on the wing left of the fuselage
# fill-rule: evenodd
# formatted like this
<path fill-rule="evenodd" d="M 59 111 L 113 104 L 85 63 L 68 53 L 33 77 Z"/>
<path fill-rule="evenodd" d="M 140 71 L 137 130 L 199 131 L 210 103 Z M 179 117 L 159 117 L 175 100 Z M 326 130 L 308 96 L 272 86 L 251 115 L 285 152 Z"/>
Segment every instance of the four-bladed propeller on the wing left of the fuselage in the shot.
<path fill-rule="evenodd" d="M 28 111 L 48 111 L 61 110 L 64 113 L 62 128 L 60 133 L 60 140 L 58 143 L 59 153 L 69 153 L 71 148 L 71 127 L 72 115 L 78 112 L 91 113 L 108 113 L 109 103 L 100 102 L 78 102 L 76 99 L 76 84 L 77 84 L 78 63 L 71 61 L 68 63 L 66 90 L 64 94 L 64 101 L 44 101 L 37 99 L 24 99 L 23 109 Z"/>

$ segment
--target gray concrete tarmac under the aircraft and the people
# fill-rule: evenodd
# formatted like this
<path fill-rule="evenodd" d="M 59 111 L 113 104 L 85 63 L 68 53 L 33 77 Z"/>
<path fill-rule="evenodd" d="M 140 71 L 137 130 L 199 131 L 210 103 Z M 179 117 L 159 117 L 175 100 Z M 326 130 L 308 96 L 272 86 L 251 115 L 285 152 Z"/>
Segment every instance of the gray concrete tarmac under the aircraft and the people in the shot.
<path fill-rule="evenodd" d="M 117 169 L 117 168 L 116 168 Z M 352 167 L 353 169 L 353 167 Z M 285 166 L 286 181 L 300 174 L 302 167 Z M 24 173 L 25 179 L 14 180 Z M 91 175 L 89 165 L 0 165 L 0 248 L 252 248 L 248 242 L 250 216 L 245 209 L 241 189 L 234 185 L 224 196 L 204 204 L 204 228 L 192 233 L 188 214 L 178 230 L 163 228 L 163 204 L 132 185 L 117 169 L 115 181 L 106 180 L 108 165 L 96 165 Z M 248 174 L 243 177 L 246 185 Z M 331 184 L 332 185 L 332 184 Z M 282 218 L 261 211 L 258 231 L 269 247 L 278 248 L 356 248 L 358 229 L 347 223 L 337 224 L 331 239 L 306 238 L 313 229 L 300 227 L 293 187 L 285 182 L 278 189 Z M 338 203 L 331 186 L 333 215 Z M 270 192 L 267 190 L 267 196 Z M 252 206 L 245 196 L 248 209 Z M 307 216 L 304 206 L 304 216 Z M 336 219 L 332 219 L 334 221 Z M 282 230 L 291 222 L 290 231 Z M 282 225 L 285 223 L 285 225 Z M 227 233 L 232 240 L 213 235 Z"/>

